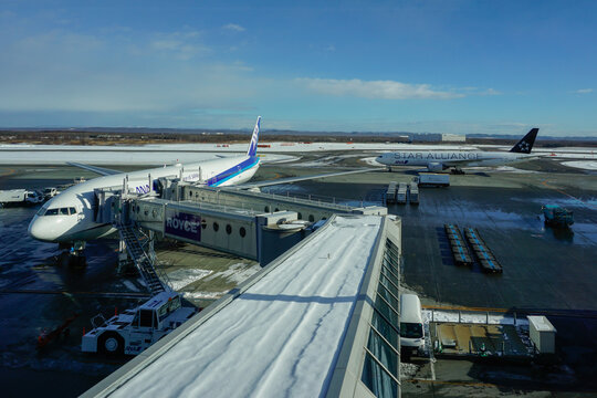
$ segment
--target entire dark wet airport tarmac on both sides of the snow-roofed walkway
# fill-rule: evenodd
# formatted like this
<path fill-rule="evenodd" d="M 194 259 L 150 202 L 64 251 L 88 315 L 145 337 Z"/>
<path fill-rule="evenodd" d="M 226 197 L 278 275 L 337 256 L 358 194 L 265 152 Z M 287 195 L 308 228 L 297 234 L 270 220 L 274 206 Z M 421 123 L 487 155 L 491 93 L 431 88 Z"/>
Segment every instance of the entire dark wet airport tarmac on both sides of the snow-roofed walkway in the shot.
<path fill-rule="evenodd" d="M 301 163 L 315 163 L 308 167 L 297 164 L 263 166 L 255 179 L 329 172 L 333 171 L 331 167 L 335 166 L 366 166 L 355 156 L 336 157 L 332 159 L 333 166 L 318 161 L 332 155 L 305 156 Z M 362 154 L 360 158 L 365 156 L 369 155 Z M 471 175 L 450 176 L 452 186 L 449 188 L 421 188 L 418 207 L 390 206 L 390 213 L 402 217 L 402 280 L 408 289 L 422 296 L 423 304 L 557 310 L 564 315 L 564 321 L 558 322 L 559 326 L 556 327 L 563 327 L 568 336 L 563 344 L 574 345 L 569 336 L 574 335 L 575 329 L 566 331 L 566 315 L 583 312 L 595 316 L 597 311 L 597 294 L 594 292 L 597 276 L 594 266 L 597 254 L 597 178 L 589 171 L 548 161 L 533 164 L 496 171 L 475 169 L 471 170 Z M 94 177 L 92 172 L 72 167 L 1 167 L 0 189 L 56 186 L 81 176 Z M 325 181 L 275 186 L 269 190 L 335 197 L 337 201 L 352 205 L 362 201 L 365 205 L 379 205 L 390 180 L 408 181 L 413 176 L 415 171 L 408 169 L 391 174 L 379 169 Z M 556 202 L 575 211 L 573 233 L 559 233 L 544 227 L 538 218 L 544 202 Z M 74 396 L 124 363 L 83 356 L 78 352 L 82 327 L 88 327 L 90 317 L 100 311 L 109 312 L 115 306 L 124 308 L 134 305 L 139 300 L 135 295 L 143 293 L 143 286 L 137 277 L 116 276 L 114 240 L 88 244 L 88 266 L 84 270 L 56 266 L 53 256 L 59 254 L 57 248 L 35 242 L 27 235 L 27 226 L 34 211 L 35 208 L 0 210 L 0 233 L 6 241 L 0 247 L 0 289 L 3 290 L 3 315 L 0 318 L 0 366 L 3 370 L 0 371 L 0 383 L 9 386 L 9 391 L 18 391 L 19 396 L 31 396 L 42 391 L 49 395 L 43 386 L 28 384 L 31 378 L 59 380 L 52 384 L 56 388 L 52 388 L 50 396 Z M 475 268 L 455 266 L 442 234 L 446 222 L 478 228 L 504 266 L 504 273 L 485 275 Z M 13 239 L 7 241 L 4 237 Z M 180 283 L 191 281 L 184 289 L 187 291 L 186 297 L 197 300 L 200 306 L 209 304 L 219 292 L 228 289 L 228 283 L 240 281 L 256 271 L 255 264 L 250 261 L 197 247 L 160 245 L 158 256 L 175 273 L 175 280 Z M 197 265 L 198 262 L 200 265 Z M 208 264 L 212 264 L 212 268 Z M 238 280 L 237 276 L 231 277 L 232 274 L 238 274 Z M 123 296 L 106 297 L 88 292 L 117 292 Z M 77 311 L 81 315 L 73 323 L 71 336 L 49 346 L 43 353 L 36 353 L 34 346 L 40 329 L 55 327 Z M 585 328 L 582 334 L 585 337 L 591 336 L 595 331 L 591 323 L 582 323 L 578 327 Z M 574 353 L 584 360 L 593 360 L 583 364 L 583 369 L 596 369 L 593 358 L 597 356 L 597 348 L 595 343 L 585 344 L 585 337 Z M 438 369 L 446 371 L 437 371 L 437 377 L 446 383 L 427 383 L 432 387 L 425 391 L 440 396 L 460 396 L 459 391 L 468 395 L 464 390 L 452 388 L 450 383 L 470 378 L 474 383 L 486 384 L 481 390 L 489 396 L 503 394 L 503 388 L 493 387 L 495 383 L 488 381 L 480 373 L 471 373 L 472 367 L 479 369 L 476 366 L 452 367 L 442 363 Z M 463 378 L 463 375 L 469 376 Z M 73 379 L 76 381 L 70 383 Z M 580 381 L 585 383 L 580 390 L 591 390 L 589 387 L 593 385 L 586 378 Z M 421 381 L 418 385 L 426 384 Z M 521 390 L 525 390 L 525 386 L 528 387 L 528 384 L 523 383 Z M 479 391 L 479 385 L 473 387 L 472 391 Z M 405 396 L 421 391 L 419 387 L 413 388 L 411 390 L 404 383 Z M 536 388 L 541 389 L 542 386 Z M 566 387 L 561 390 L 578 389 Z"/>

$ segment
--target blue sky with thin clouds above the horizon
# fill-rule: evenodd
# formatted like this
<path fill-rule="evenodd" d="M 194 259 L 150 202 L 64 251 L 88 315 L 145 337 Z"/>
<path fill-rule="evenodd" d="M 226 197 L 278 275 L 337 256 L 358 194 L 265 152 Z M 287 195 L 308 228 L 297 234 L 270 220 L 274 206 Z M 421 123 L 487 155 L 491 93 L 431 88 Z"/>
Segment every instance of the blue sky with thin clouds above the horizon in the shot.
<path fill-rule="evenodd" d="M 597 137 L 595 1 L 296 3 L 0 0 L 0 126 Z"/>

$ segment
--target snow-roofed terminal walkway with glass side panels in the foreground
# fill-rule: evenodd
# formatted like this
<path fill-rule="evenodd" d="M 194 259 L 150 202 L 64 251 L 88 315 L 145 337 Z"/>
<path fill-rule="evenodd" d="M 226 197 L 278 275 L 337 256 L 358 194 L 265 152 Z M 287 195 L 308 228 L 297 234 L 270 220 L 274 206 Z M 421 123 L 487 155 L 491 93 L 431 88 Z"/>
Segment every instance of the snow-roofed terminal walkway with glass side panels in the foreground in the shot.
<path fill-rule="evenodd" d="M 400 396 L 400 238 L 332 214 L 84 397 Z"/>

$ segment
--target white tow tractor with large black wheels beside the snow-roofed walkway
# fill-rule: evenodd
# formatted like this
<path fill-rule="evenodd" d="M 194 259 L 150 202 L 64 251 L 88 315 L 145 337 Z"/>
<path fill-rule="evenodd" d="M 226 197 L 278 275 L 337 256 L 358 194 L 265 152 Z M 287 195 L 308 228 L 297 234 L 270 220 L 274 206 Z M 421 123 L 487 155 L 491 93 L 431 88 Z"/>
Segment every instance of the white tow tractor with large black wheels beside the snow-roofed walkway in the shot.
<path fill-rule="evenodd" d="M 196 313 L 182 307 L 176 292 L 161 292 L 140 306 L 114 315 L 92 320 L 93 329 L 83 335 L 84 353 L 137 355 L 176 329 Z"/>

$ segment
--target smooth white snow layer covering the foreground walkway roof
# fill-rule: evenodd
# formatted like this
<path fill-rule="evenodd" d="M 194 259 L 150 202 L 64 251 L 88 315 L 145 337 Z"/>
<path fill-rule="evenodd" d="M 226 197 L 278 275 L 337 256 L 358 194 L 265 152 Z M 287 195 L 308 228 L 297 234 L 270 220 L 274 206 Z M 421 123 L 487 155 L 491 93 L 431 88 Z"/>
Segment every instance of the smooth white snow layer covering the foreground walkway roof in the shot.
<path fill-rule="evenodd" d="M 112 396 L 325 394 L 379 228 L 336 217 Z"/>

